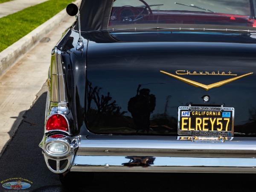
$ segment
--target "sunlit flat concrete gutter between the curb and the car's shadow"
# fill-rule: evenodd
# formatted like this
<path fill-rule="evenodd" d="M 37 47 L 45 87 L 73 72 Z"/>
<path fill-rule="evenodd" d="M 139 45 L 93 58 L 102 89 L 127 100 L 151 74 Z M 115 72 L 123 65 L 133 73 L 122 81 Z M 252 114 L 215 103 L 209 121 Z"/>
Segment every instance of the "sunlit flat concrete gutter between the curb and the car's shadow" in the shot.
<path fill-rule="evenodd" d="M 47 80 L 52 48 L 61 38 L 62 32 L 76 19 L 67 14 L 64 19 L 63 17 L 60 19 L 60 14 L 63 13 L 60 12 L 52 17 L 52 19 L 56 18 L 58 23 L 53 30 L 44 35 L 45 39 L 50 41 L 35 44 L 0 76 L 0 156 L 23 120 L 23 114 L 31 107 L 36 94 Z M 52 19 L 49 20 L 50 23 Z M 43 25 L 49 25 L 49 23 L 46 22 Z M 38 33 L 36 30 L 41 32 L 41 26 L 33 32 Z"/>

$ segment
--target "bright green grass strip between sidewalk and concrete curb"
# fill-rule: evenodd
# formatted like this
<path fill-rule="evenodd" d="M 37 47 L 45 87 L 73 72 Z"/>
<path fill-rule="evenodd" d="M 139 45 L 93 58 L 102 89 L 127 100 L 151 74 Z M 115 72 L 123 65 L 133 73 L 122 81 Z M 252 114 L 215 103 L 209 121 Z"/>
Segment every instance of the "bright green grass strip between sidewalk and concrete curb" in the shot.
<path fill-rule="evenodd" d="M 0 52 L 49 20 L 72 0 L 49 0 L 0 18 Z"/>

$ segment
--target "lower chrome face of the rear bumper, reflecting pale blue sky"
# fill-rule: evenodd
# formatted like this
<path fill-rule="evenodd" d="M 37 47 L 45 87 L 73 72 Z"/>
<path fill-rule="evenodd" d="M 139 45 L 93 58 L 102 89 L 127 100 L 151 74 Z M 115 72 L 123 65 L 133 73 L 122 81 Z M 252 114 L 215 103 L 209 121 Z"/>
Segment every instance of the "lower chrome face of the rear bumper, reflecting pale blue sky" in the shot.
<path fill-rule="evenodd" d="M 131 163 L 128 166 L 134 158 L 129 160 L 124 156 L 77 156 L 71 171 L 256 173 L 256 160 L 247 158 L 152 157 L 152 165 Z"/>

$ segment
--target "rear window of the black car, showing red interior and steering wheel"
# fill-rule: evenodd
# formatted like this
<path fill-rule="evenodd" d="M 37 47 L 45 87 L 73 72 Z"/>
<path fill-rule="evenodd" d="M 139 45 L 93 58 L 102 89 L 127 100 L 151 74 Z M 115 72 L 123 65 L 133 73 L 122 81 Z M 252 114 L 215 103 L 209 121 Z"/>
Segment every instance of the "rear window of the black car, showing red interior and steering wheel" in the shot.
<path fill-rule="evenodd" d="M 252 26 L 254 9 L 250 7 L 253 2 L 250 6 L 249 0 L 115 0 L 109 29 L 140 28 L 145 24 Z"/>

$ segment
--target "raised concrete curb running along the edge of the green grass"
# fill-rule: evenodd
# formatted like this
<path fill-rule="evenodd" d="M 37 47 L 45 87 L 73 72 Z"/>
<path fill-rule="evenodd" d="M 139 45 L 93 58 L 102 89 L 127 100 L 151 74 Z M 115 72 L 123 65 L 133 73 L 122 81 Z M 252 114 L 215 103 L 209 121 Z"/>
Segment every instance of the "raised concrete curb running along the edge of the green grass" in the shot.
<path fill-rule="evenodd" d="M 78 5 L 80 0 L 74 2 Z M 34 45 L 40 41 L 44 35 L 49 33 L 52 29 L 56 27 L 64 17 L 67 16 L 66 9 L 63 9 L 57 15 L 53 16 L 51 19 L 47 20 L 45 23 L 38 26 L 32 32 L 21 38 L 19 41 L 7 47 L 2 52 L 0 52 L 0 76 L 5 73 L 15 61 L 17 61 L 21 56 L 28 52 Z"/>

